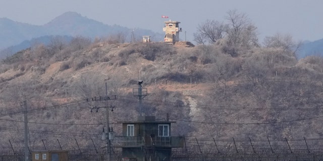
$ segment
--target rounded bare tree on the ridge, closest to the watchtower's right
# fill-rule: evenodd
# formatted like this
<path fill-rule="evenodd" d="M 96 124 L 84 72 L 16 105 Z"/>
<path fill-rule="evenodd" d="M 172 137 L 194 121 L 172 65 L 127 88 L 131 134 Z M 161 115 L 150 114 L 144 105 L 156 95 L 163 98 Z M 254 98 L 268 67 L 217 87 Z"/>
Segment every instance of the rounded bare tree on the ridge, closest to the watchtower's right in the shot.
<path fill-rule="evenodd" d="M 206 20 L 197 27 L 197 33 L 194 33 L 194 41 L 204 44 L 204 41 L 209 43 L 217 42 L 222 39 L 227 25 L 214 20 Z"/>

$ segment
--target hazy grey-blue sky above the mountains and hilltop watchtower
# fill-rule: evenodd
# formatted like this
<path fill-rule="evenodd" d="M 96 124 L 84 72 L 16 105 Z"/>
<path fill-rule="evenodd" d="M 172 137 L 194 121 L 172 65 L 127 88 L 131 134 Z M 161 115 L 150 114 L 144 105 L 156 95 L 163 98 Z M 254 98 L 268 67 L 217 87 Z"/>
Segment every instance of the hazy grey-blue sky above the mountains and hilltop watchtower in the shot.
<path fill-rule="evenodd" d="M 259 40 L 275 33 L 289 33 L 295 40 L 323 38 L 322 0 L 0 0 L 0 17 L 43 25 L 73 11 L 108 25 L 163 32 L 161 16 L 180 21 L 188 41 L 199 23 L 225 21 L 229 10 L 246 13 L 258 28 Z M 185 39 L 184 32 L 180 38 Z"/>

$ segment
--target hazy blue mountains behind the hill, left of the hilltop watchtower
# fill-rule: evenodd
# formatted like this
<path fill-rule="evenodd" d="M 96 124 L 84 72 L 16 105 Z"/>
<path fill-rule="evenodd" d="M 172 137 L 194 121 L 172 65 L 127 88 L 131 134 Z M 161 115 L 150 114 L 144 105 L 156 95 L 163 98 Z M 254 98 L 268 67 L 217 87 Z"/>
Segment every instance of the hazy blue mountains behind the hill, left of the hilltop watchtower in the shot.
<path fill-rule="evenodd" d="M 0 50 L 8 50 L 8 47 L 10 47 L 10 50 L 17 52 L 28 47 L 28 44 L 32 44 L 33 41 L 46 41 L 48 40 L 48 36 L 51 35 L 95 38 L 122 32 L 127 35 L 127 41 L 130 41 L 131 30 L 130 28 L 119 25 L 106 25 L 83 17 L 75 12 L 64 13 L 42 26 L 0 18 Z M 164 38 L 162 32 L 156 33 L 151 30 L 135 29 L 134 37 L 136 39 L 141 40 L 141 36 L 143 35 L 150 35 L 154 41 L 162 41 Z"/>

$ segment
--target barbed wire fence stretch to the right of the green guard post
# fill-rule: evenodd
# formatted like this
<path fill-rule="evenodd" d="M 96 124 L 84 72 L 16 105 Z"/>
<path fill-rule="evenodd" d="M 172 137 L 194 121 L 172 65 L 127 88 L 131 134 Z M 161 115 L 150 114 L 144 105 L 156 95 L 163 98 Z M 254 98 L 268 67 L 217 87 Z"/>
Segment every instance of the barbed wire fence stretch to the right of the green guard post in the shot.
<path fill-rule="evenodd" d="M 321 160 L 322 138 L 186 138 L 173 160 Z"/>

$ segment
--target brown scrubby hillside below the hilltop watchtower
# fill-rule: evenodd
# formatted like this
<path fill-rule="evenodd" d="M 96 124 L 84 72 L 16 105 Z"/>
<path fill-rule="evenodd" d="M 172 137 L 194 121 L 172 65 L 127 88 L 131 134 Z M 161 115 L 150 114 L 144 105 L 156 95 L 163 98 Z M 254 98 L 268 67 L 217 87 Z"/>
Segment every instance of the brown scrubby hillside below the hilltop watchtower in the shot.
<path fill-rule="evenodd" d="M 292 51 L 263 47 L 241 48 L 235 55 L 222 45 L 96 42 L 63 50 L 34 47 L 2 61 L 1 118 L 21 121 L 20 103 L 26 100 L 35 110 L 29 121 L 39 122 L 29 128 L 56 131 L 33 133 L 34 146 L 39 138 L 65 138 L 64 132 L 98 134 L 93 137 L 99 139 L 104 109 L 90 113 L 90 108 L 104 103 L 85 100 L 104 96 L 106 82 L 108 95 L 117 96 L 109 102 L 116 106 L 112 123 L 135 119 L 138 100 L 132 89 L 137 88 L 139 71 L 143 87 L 148 88 L 145 114 L 163 119 L 170 113 L 170 119 L 177 121 L 173 135 L 323 137 L 322 62 L 320 57 L 298 61 Z M 21 122 L 2 121 L 0 126 L 23 129 Z M 120 125 L 113 126 L 120 134 Z M 0 133 L 2 144 L 22 135 Z"/>

